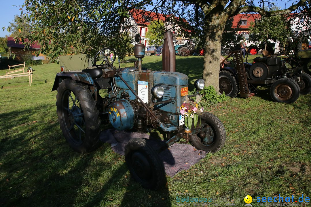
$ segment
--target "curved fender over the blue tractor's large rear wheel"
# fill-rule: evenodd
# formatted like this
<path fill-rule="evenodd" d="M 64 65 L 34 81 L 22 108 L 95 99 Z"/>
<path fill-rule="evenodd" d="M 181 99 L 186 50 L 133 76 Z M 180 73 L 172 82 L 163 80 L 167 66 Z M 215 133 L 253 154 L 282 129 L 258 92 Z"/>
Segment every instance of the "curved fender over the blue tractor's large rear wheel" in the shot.
<path fill-rule="evenodd" d="M 82 83 L 86 83 L 89 85 L 95 85 L 94 80 L 92 79 L 91 75 L 89 73 L 84 73 L 84 72 L 60 72 L 58 74 L 56 74 L 55 80 L 54 80 L 54 84 L 53 84 L 53 88 L 52 91 L 57 90 L 58 85 L 60 82 L 62 82 L 64 79 L 72 79 L 72 80 L 77 80 L 80 81 Z"/>

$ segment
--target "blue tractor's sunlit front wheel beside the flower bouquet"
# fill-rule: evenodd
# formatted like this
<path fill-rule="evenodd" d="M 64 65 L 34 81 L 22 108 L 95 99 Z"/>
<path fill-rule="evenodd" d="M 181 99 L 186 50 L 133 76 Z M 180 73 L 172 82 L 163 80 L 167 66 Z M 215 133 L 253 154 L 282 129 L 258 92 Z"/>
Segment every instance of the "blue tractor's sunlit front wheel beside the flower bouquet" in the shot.
<path fill-rule="evenodd" d="M 201 132 L 190 135 L 191 143 L 198 150 L 204 150 L 207 152 L 219 151 L 224 146 L 226 140 L 224 125 L 215 115 L 211 113 L 205 112 L 200 116 L 200 118 L 201 126 L 199 126 L 200 121 L 198 121 L 197 128 L 207 128 L 207 133 L 210 134 L 210 140 L 206 142 L 207 140 L 204 140 L 206 134 Z"/>

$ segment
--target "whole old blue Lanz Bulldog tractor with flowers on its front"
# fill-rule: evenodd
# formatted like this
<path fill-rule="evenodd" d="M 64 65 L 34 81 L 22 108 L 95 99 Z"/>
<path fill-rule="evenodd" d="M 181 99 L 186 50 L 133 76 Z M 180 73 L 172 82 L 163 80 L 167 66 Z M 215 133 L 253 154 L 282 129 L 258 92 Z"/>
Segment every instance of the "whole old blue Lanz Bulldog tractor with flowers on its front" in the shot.
<path fill-rule="evenodd" d="M 52 91 L 57 90 L 60 128 L 75 151 L 94 150 L 100 143 L 100 125 L 108 120 L 120 131 L 163 132 L 164 140 L 157 139 L 155 145 L 146 139 L 133 138 L 125 147 L 125 161 L 132 178 L 143 187 L 157 189 L 165 184 L 160 151 L 181 139 L 198 150 L 219 151 L 225 143 L 225 128 L 208 112 L 199 114 L 197 124 L 188 122 L 190 127 L 185 127 L 188 117 L 180 114 L 181 106 L 186 97 L 195 95 L 188 96 L 188 76 L 174 72 L 175 50 L 170 32 L 165 33 L 162 71 L 142 68 L 145 46 L 138 43 L 139 35 L 135 40 L 134 54 L 138 60 L 134 67 L 114 67 L 115 56 L 111 62 L 108 56 L 100 56 L 114 50 L 104 48 L 95 55 L 95 67 L 91 69 L 65 72 L 61 66 L 62 72 L 56 75 Z M 198 79 L 194 86 L 202 90 L 204 84 Z M 101 89 L 108 89 L 106 97 L 100 96 Z"/>

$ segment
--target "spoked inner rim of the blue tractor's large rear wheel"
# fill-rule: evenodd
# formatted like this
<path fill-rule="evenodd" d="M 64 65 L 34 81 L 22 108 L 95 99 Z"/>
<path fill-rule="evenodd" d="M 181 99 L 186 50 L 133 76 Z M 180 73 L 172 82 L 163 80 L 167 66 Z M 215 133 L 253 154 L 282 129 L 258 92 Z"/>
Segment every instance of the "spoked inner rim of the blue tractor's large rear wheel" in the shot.
<path fill-rule="evenodd" d="M 66 120 L 67 130 L 72 136 L 72 139 L 76 142 L 82 142 L 83 137 L 85 136 L 85 120 L 84 114 L 80 105 L 79 99 L 75 96 L 72 91 L 67 91 L 67 104 L 64 106 L 67 111 L 67 117 L 64 117 Z M 65 113 L 66 114 L 66 113 Z"/>

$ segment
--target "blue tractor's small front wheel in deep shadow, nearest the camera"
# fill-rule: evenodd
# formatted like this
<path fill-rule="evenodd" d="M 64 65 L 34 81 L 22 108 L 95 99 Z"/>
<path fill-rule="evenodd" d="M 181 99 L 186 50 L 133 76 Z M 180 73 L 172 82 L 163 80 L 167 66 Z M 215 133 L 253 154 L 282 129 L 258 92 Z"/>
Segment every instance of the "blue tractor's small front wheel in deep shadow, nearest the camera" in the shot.
<path fill-rule="evenodd" d="M 125 146 L 125 161 L 132 178 L 144 188 L 156 190 L 165 185 L 165 171 L 149 140 L 133 138 Z"/>

